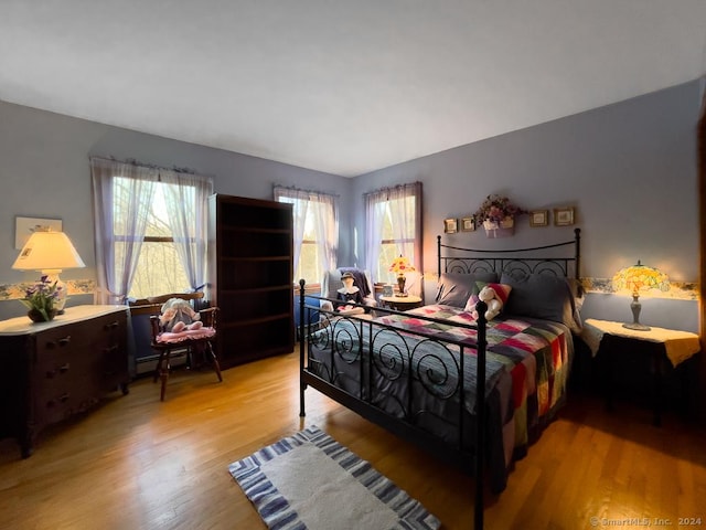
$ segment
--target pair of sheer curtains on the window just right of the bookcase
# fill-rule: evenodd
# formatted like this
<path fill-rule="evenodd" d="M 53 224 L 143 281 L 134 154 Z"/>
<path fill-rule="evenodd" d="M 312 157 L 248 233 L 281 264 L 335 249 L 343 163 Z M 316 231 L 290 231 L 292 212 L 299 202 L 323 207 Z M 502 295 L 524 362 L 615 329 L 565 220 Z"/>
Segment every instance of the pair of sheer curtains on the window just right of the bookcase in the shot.
<path fill-rule="evenodd" d="M 321 271 L 334 268 L 339 248 L 338 197 L 281 186 L 276 186 L 272 192 L 276 201 L 292 204 L 295 263 L 299 263 L 307 216 L 312 213 L 319 246 L 319 266 Z"/>

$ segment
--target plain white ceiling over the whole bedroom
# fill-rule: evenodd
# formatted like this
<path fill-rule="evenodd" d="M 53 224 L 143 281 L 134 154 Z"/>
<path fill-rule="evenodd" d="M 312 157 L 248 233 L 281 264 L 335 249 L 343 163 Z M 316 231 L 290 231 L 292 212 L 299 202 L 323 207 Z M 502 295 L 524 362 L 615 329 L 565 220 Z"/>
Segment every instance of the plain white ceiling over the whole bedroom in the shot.
<path fill-rule="evenodd" d="M 356 176 L 706 72 L 706 0 L 0 0 L 0 99 Z"/>

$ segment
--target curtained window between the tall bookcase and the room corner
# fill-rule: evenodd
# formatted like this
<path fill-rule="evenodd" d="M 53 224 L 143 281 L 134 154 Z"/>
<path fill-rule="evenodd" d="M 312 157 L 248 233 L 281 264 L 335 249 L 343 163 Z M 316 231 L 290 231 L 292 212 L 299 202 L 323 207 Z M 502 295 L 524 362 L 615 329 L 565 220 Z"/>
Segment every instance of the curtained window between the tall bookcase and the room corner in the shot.
<path fill-rule="evenodd" d="M 318 284 L 335 267 L 339 243 L 338 198 L 327 193 L 275 187 L 275 200 L 292 204 L 295 283 Z"/>

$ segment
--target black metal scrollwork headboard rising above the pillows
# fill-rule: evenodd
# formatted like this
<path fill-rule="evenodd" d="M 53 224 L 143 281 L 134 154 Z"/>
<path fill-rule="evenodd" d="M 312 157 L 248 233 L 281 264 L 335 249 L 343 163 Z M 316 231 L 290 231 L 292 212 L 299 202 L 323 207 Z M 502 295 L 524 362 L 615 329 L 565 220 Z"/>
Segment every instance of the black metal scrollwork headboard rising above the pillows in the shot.
<path fill-rule="evenodd" d="M 574 246 L 573 256 L 544 256 L 541 251 Z M 531 254 L 534 253 L 534 254 Z M 581 229 L 574 229 L 574 240 L 553 245 L 533 246 L 528 248 L 513 248 L 503 251 L 488 251 L 463 248 L 441 244 L 441 236 L 437 236 L 438 274 L 461 273 L 473 274 L 480 272 L 495 272 L 512 276 L 527 274 L 553 274 L 555 276 L 574 277 L 579 279 L 581 259 Z M 571 271 L 571 265 L 574 265 Z"/>

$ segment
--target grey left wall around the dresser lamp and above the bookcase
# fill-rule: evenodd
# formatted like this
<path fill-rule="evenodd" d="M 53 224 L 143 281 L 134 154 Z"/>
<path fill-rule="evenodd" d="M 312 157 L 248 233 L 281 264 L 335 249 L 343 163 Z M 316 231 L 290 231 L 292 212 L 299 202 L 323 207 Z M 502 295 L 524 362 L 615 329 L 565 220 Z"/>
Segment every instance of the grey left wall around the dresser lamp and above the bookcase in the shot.
<path fill-rule="evenodd" d="M 63 220 L 86 263 L 64 271 L 64 279 L 95 279 L 89 156 L 136 159 L 191 168 L 214 178 L 216 193 L 271 199 L 272 184 L 347 195 L 351 180 L 285 163 L 145 135 L 0 102 L 0 284 L 32 280 L 35 273 L 13 271 L 14 218 Z M 351 215 L 342 201 L 341 219 Z M 343 234 L 342 246 L 350 243 Z M 72 297 L 69 305 L 92 303 Z M 25 312 L 17 300 L 0 301 L 0 319 Z"/>

